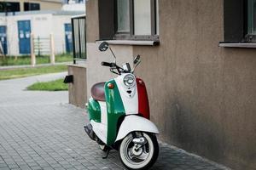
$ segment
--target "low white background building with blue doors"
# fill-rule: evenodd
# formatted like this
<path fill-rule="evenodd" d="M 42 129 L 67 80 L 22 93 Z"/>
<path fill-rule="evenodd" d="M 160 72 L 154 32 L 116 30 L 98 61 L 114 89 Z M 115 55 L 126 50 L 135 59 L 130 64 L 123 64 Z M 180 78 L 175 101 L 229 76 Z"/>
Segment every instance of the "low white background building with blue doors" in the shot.
<path fill-rule="evenodd" d="M 55 54 L 73 52 L 71 18 L 83 12 L 38 11 L 0 15 L 0 42 L 7 55 L 31 54 L 31 34 L 34 53 L 50 53 L 50 35 L 54 37 Z"/>

